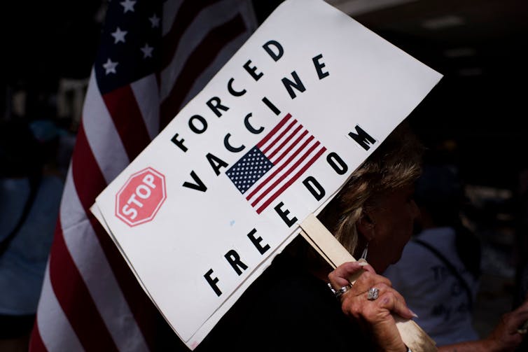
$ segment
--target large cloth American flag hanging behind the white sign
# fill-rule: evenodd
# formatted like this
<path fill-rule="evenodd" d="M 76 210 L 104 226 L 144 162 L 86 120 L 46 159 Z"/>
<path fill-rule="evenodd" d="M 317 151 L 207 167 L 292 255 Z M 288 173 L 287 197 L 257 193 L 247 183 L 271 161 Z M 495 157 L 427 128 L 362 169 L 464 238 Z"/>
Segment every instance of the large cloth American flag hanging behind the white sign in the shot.
<path fill-rule="evenodd" d="M 89 208 L 254 29 L 249 0 L 109 3 L 31 351 L 183 346 Z"/>

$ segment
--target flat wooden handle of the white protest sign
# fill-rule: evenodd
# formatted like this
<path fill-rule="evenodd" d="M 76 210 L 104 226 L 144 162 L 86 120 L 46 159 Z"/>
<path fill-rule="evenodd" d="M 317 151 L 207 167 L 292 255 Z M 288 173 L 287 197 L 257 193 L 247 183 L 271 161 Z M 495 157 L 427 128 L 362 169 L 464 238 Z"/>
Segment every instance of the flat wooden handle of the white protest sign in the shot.
<path fill-rule="evenodd" d="M 342 265 L 344 262 L 356 261 L 314 214 L 307 216 L 303 223 L 300 223 L 300 228 L 302 229 L 300 234 L 333 268 Z M 349 278 L 349 281 L 354 283 L 360 275 L 361 273 L 354 275 Z M 403 343 L 412 352 L 438 351 L 436 343 L 417 323 L 399 316 L 394 316 L 394 320 Z"/>

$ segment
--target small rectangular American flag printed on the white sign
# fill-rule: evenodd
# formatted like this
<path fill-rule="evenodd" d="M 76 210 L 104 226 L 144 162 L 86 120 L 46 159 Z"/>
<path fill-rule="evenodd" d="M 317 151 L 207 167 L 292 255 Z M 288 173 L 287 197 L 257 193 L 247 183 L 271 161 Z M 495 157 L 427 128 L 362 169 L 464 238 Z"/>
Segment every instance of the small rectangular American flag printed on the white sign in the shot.
<path fill-rule="evenodd" d="M 225 174 L 262 213 L 326 151 L 291 114 L 284 118 Z M 269 171 L 269 174 L 268 174 Z"/>

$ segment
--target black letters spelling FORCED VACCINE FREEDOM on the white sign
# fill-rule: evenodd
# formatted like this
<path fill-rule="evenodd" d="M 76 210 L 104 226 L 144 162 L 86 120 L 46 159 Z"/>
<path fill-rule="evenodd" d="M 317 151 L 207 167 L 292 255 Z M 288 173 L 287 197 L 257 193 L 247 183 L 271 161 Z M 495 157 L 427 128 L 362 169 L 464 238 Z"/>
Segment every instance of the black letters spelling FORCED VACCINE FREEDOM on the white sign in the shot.
<path fill-rule="evenodd" d="M 266 42 L 262 46 L 262 48 L 275 62 L 279 62 L 279 59 L 281 59 L 281 57 L 284 55 L 283 46 L 279 42 L 274 40 Z M 326 64 L 324 63 L 323 58 L 324 57 L 321 53 L 311 58 L 314 67 L 314 74 L 317 75 L 317 78 L 319 78 L 319 80 L 323 80 L 324 78 L 330 75 L 330 72 L 328 71 L 328 69 L 326 69 Z M 249 76 L 255 82 L 257 82 L 264 75 L 264 72 L 260 71 L 260 69 L 258 69 L 258 66 L 253 64 L 251 59 L 248 59 L 246 63 L 242 65 L 242 68 L 244 69 L 245 73 L 249 74 Z M 291 76 L 289 77 L 281 78 L 281 82 L 284 86 L 284 92 L 289 94 L 289 97 L 291 99 L 295 99 L 298 93 L 303 93 L 306 91 L 306 86 L 296 71 L 292 71 Z M 227 92 L 228 94 L 230 94 L 231 97 L 242 97 L 247 92 L 245 87 L 240 87 L 236 85 L 235 78 L 230 78 L 227 82 L 226 87 Z M 263 104 L 274 115 L 281 115 L 281 110 L 275 104 L 273 104 L 272 101 L 268 99 L 268 97 L 262 97 L 260 101 L 262 101 Z M 223 113 L 229 110 L 229 106 L 223 103 L 222 100 L 216 96 L 211 97 L 207 101 L 206 105 L 209 111 L 211 111 L 211 113 L 213 113 L 216 118 L 221 118 Z M 251 134 L 261 134 L 262 132 L 264 132 L 265 127 L 253 125 L 251 123 L 251 117 L 252 113 L 247 113 L 244 118 L 244 127 L 246 128 L 246 130 Z M 195 114 L 188 118 L 188 127 L 191 133 L 202 134 L 206 132 L 208 128 L 208 122 L 207 119 L 204 118 L 202 115 Z M 182 132 L 174 133 L 172 135 L 171 142 L 183 153 L 186 153 L 189 150 L 189 146 L 186 144 L 185 136 L 182 136 L 181 133 Z M 363 129 L 361 129 L 361 127 L 357 125 L 354 127 L 354 131 L 351 130 L 348 133 L 348 136 L 351 137 L 353 141 L 358 143 L 359 146 L 361 146 L 361 148 L 363 148 L 364 150 L 370 149 L 370 146 L 377 142 L 372 136 L 370 136 L 367 132 L 365 132 Z M 246 146 L 244 146 L 243 144 L 238 145 L 233 143 L 231 137 L 232 135 L 230 133 L 225 134 L 224 136 L 223 146 L 225 147 L 225 150 L 230 153 L 239 153 L 242 152 L 242 150 L 246 149 Z M 251 148 L 251 146 L 249 148 Z M 209 162 L 209 165 L 216 176 L 219 176 L 223 169 L 229 166 L 228 162 L 225 162 L 221 157 L 218 157 L 213 153 L 206 153 L 205 159 L 207 160 L 207 162 Z M 333 171 L 335 171 L 339 175 L 345 174 L 349 169 L 347 164 L 345 164 L 345 162 L 337 153 L 328 153 L 326 155 L 326 161 L 328 162 L 328 165 L 331 167 L 331 169 L 333 169 Z M 310 192 L 310 194 L 318 201 L 322 199 L 324 195 L 326 195 L 323 185 L 321 185 L 321 183 L 319 183 L 319 181 L 317 181 L 317 179 L 313 176 L 307 176 L 302 182 L 303 185 L 305 185 L 305 188 Z M 189 190 L 197 192 L 207 191 L 207 183 L 202 181 L 202 177 L 200 177 L 194 170 L 190 171 L 190 179 L 188 181 L 185 181 L 182 186 L 184 188 L 188 188 Z M 273 206 L 273 209 L 275 210 L 275 213 L 277 213 L 277 215 L 282 219 L 284 224 L 288 227 L 293 226 L 298 220 L 296 216 L 291 214 L 291 211 L 289 211 L 289 209 L 286 209 L 283 202 L 277 201 L 277 204 Z M 246 234 L 246 237 L 249 239 L 249 241 L 251 241 L 251 244 L 253 244 L 254 248 L 256 248 L 260 255 L 264 255 L 270 249 L 270 245 L 265 243 L 265 239 L 258 235 L 257 230 L 255 228 L 251 229 Z M 242 259 L 241 255 L 235 249 L 231 249 L 230 251 L 225 253 L 224 258 L 227 262 L 227 265 L 232 267 L 233 274 L 240 276 L 246 269 L 248 269 L 248 265 L 244 263 L 244 260 Z M 207 283 L 209 283 L 209 286 L 217 296 L 222 295 L 221 285 L 219 284 L 220 279 L 214 276 L 214 270 L 212 268 L 204 274 L 204 279 L 207 281 Z"/>

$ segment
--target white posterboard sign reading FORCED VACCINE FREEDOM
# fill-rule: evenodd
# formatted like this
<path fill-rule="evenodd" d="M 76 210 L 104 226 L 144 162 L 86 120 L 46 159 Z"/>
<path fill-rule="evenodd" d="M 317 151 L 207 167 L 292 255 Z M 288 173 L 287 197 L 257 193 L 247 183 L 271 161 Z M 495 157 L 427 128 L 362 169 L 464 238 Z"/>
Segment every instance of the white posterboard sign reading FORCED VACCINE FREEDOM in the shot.
<path fill-rule="evenodd" d="M 194 349 L 440 78 L 328 3 L 287 0 L 92 211 Z"/>

